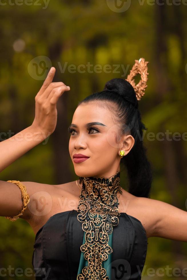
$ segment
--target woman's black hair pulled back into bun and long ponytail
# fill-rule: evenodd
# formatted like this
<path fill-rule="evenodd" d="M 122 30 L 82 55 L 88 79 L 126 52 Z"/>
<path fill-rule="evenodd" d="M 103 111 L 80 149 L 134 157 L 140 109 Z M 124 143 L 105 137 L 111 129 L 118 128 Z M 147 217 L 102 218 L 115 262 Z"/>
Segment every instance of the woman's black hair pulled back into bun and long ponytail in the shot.
<path fill-rule="evenodd" d="M 99 105 L 112 109 L 115 120 L 122 124 L 122 131 L 126 133 L 128 130 L 128 134 L 134 137 L 134 146 L 121 159 L 121 163 L 127 169 L 128 192 L 137 197 L 150 197 L 152 166 L 147 159 L 146 148 L 142 140 L 143 129 L 147 128 L 141 121 L 138 100 L 133 86 L 122 78 L 111 79 L 105 84 L 103 91 L 87 96 L 78 103 L 78 106 L 90 101 L 96 101 Z"/>

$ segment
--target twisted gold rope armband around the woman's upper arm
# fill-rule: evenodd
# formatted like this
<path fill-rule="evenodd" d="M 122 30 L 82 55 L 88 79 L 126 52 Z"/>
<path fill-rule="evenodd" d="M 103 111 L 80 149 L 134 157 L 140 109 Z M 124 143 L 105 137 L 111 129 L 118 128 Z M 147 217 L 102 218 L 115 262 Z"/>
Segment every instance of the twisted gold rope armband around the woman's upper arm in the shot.
<path fill-rule="evenodd" d="M 14 184 L 16 184 L 20 188 L 20 190 L 21 190 L 21 199 L 23 201 L 23 208 L 21 209 L 21 211 L 19 211 L 19 213 L 16 216 L 5 217 L 6 219 L 9 219 L 12 222 L 14 222 L 17 219 L 19 219 L 20 215 L 23 215 L 23 211 L 27 208 L 27 204 L 30 201 L 30 197 L 29 197 L 29 194 L 27 193 L 27 189 L 26 189 L 25 185 L 23 185 L 23 183 L 21 183 L 20 181 L 9 180 L 7 182 L 14 183 Z"/>

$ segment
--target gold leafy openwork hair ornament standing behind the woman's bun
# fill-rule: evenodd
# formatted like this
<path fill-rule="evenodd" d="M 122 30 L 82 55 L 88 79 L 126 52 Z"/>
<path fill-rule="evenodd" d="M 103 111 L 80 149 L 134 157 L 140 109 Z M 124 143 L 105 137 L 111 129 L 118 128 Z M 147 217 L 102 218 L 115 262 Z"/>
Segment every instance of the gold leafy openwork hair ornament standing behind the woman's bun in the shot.
<path fill-rule="evenodd" d="M 148 67 L 147 64 L 149 62 L 145 61 L 145 59 L 142 57 L 139 60 L 135 60 L 135 64 L 133 65 L 132 69 L 130 70 L 130 74 L 127 76 L 126 81 L 128 81 L 133 87 L 136 92 L 136 98 L 138 100 L 141 99 L 141 97 L 145 94 L 145 89 L 147 87 L 146 83 L 148 80 Z M 141 75 L 141 80 L 139 83 L 136 85 L 134 81 L 134 77 L 140 74 Z"/>

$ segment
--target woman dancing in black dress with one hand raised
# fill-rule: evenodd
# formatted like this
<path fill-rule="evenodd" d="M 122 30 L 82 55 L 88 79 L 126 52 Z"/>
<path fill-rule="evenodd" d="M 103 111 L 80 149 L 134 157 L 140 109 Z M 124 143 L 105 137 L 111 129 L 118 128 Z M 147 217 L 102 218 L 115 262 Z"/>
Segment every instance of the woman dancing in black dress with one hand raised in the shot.
<path fill-rule="evenodd" d="M 51 67 L 35 97 L 35 119 L 21 131 L 22 141 L 14 141 L 14 135 L 1 142 L 1 171 L 55 130 L 56 103 L 70 88 L 52 83 L 54 74 Z M 143 80 L 142 85 L 145 89 Z M 148 237 L 187 241 L 186 211 L 149 198 L 152 171 L 138 109 L 144 89 L 112 79 L 102 92 L 78 104 L 68 131 L 79 181 L 0 181 L 0 215 L 25 219 L 36 234 L 36 279 L 141 279 Z M 121 161 L 129 191 L 120 186 Z"/>

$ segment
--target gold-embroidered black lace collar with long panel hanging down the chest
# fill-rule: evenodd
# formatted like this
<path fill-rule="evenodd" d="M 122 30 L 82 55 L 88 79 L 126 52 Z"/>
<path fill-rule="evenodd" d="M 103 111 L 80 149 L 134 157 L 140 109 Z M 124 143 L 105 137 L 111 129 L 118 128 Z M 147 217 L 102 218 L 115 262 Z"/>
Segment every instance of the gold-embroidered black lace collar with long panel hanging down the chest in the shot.
<path fill-rule="evenodd" d="M 81 252 L 88 261 L 88 266 L 77 275 L 77 280 L 104 279 L 106 269 L 102 261 L 108 259 L 112 248 L 108 245 L 113 226 L 118 225 L 120 212 L 118 209 L 117 193 L 122 194 L 120 187 L 120 171 L 110 178 L 80 177 L 83 180 L 82 191 L 79 196 L 78 221 L 85 231 L 85 244 L 81 245 Z"/>

